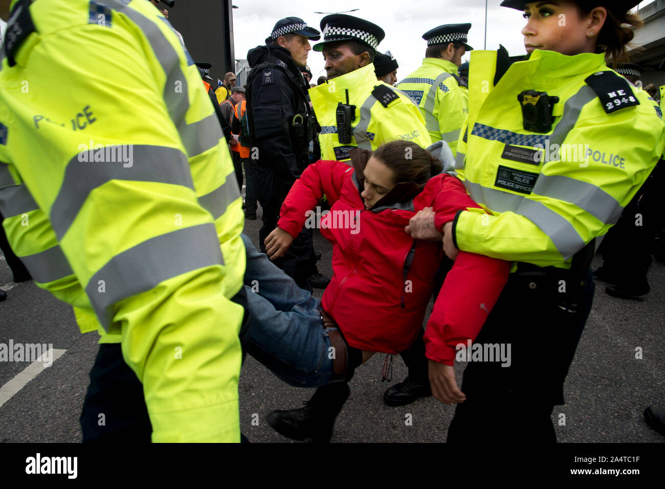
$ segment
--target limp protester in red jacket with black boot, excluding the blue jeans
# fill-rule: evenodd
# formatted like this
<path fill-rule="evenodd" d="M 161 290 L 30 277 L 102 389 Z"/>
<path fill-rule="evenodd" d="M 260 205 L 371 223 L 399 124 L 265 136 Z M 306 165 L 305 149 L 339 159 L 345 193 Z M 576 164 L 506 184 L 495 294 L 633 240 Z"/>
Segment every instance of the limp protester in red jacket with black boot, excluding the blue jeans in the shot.
<path fill-rule="evenodd" d="M 404 232 L 410 220 L 431 207 L 441 232 L 456 212 L 478 206 L 460 180 L 439 173 L 440 162 L 416 144 L 395 141 L 373 154 L 360 148 L 351 154 L 352 166 L 319 161 L 303 172 L 265 245 L 271 259 L 283 254 L 303 226 L 316 223 L 311 210 L 327 196 L 331 212 L 321 218 L 320 227 L 333 245 L 333 277 L 322 305 L 349 350 L 361 350 L 366 361 L 374 352 L 408 349 L 422 332 L 442 244 L 440 239 L 414 240 Z M 435 337 L 428 358 L 453 365 L 456 346 L 475 338 L 508 272 L 506 261 L 460 252 L 428 323 L 428 336 Z M 333 402 L 335 397 L 340 403 Z M 346 397 L 345 384 L 325 385 L 305 408 L 274 411 L 268 421 L 291 438 L 329 438 Z"/>

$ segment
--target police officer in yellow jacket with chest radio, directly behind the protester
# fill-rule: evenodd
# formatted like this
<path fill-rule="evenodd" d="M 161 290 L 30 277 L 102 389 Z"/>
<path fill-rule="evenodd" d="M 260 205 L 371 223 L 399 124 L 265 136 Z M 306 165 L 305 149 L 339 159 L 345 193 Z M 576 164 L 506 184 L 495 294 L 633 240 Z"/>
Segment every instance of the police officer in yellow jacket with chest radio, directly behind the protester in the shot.
<path fill-rule="evenodd" d="M 350 160 L 349 150 L 374 150 L 384 142 L 411 140 L 430 146 L 422 114 L 408 96 L 378 82 L 374 73 L 376 47 L 385 37 L 378 25 L 351 15 L 321 20 L 322 51 L 328 80 L 309 90 L 321 125 L 321 159 Z"/>

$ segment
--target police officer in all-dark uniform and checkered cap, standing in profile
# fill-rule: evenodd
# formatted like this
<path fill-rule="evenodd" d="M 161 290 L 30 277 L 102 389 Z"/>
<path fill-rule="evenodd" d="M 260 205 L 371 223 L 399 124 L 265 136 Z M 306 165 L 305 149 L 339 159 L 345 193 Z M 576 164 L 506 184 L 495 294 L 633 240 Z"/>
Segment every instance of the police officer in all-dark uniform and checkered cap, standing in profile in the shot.
<path fill-rule="evenodd" d="M 307 89 L 301 71 L 307 66 L 310 39 L 321 39 L 317 29 L 303 19 L 287 17 L 275 24 L 265 46 L 250 49 L 247 61 L 247 126 L 257 154 L 253 165 L 254 188 L 263 208 L 259 246 L 277 226 L 279 210 L 291 186 L 309 164 L 309 142 L 314 137 Z M 253 150 L 252 150 L 253 151 Z M 325 288 L 329 279 L 319 273 L 312 230 L 303 229 L 289 251 L 275 264 L 293 277 L 299 287 Z"/>

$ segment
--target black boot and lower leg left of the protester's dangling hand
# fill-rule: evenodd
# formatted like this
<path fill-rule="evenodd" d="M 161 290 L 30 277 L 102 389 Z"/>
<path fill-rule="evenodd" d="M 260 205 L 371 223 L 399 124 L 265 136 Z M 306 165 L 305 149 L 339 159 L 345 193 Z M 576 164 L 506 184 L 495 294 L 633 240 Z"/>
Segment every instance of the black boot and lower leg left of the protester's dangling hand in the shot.
<path fill-rule="evenodd" d="M 424 331 L 416 339 L 413 345 L 402 351 L 400 356 L 409 375 L 404 381 L 395 384 L 383 393 L 383 402 L 388 406 L 406 406 L 420 397 L 432 395 L 430 380 L 428 378 L 428 361 L 425 357 L 425 343 L 422 339 Z"/>

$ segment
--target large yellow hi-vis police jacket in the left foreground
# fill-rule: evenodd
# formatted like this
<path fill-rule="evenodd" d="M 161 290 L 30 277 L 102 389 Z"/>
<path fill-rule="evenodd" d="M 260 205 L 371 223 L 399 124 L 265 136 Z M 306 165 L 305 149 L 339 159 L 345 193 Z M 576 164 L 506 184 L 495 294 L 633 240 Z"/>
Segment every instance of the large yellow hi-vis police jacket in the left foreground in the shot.
<path fill-rule="evenodd" d="M 82 331 L 122 343 L 154 442 L 238 442 L 243 213 L 198 69 L 150 2 L 29 11 L 0 59 L 11 247 Z"/>

